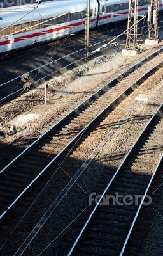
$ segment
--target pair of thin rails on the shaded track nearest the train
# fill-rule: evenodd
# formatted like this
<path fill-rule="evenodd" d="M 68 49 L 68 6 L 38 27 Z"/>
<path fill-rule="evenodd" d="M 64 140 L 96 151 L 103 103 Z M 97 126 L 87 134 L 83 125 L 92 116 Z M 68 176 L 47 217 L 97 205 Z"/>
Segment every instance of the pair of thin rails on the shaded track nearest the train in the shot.
<path fill-rule="evenodd" d="M 159 21 L 159 23 L 160 23 L 160 22 L 163 22 L 163 20 Z M 147 25 L 146 25 L 146 26 L 147 26 Z M 144 27 L 146 27 L 146 26 L 144 26 Z M 143 28 L 143 27 L 141 27 L 141 28 Z M 138 28 L 138 29 L 141 29 L 141 28 Z M 146 33 L 146 32 L 147 32 L 147 31 L 145 31 L 145 33 Z M 113 39 L 113 38 L 115 38 L 115 37 L 116 37 L 116 36 L 113 36 L 113 37 L 111 37 L 110 39 Z M 92 45 L 90 45 L 90 47 L 93 47 L 93 46 L 98 45 L 98 44 L 102 44 L 103 42 L 106 42 L 106 41 L 108 41 L 108 40 L 110 40 L 110 39 L 106 39 L 106 40 L 103 40 L 103 41 L 98 42 L 98 43 L 96 43 L 96 44 L 92 44 Z M 124 42 L 124 41 L 125 41 L 125 40 L 121 40 L 120 42 Z M 108 47 L 105 47 L 104 49 L 101 49 L 101 51 L 104 51 L 104 50 L 106 50 L 106 49 L 109 49 L 110 47 L 113 47 L 113 45 L 109 45 Z M 55 62 L 57 62 L 57 61 L 59 61 L 59 60 L 62 60 L 62 59 L 64 59 L 64 58 L 66 58 L 66 57 L 69 57 L 69 56 L 71 56 L 71 55 L 73 55 L 73 54 L 80 53 L 81 51 L 84 51 L 84 48 L 83 48 L 83 49 L 80 49 L 80 50 L 78 50 L 78 51 L 75 51 L 75 52 L 71 52 L 70 54 L 67 54 L 66 56 L 63 56 L 63 57 L 58 58 L 57 60 L 53 60 L 53 61 L 51 61 L 51 62 L 48 62 L 48 63 L 46 63 L 45 65 L 42 65 L 42 66 L 40 66 L 40 67 L 38 67 L 38 68 L 34 68 L 33 70 L 30 70 L 30 71 L 28 72 L 28 74 L 31 74 L 32 72 L 34 72 L 34 71 L 36 71 L 36 70 L 39 70 L 40 68 L 46 67 L 47 65 L 51 65 L 51 64 L 53 64 L 53 63 L 55 63 Z M 96 52 L 94 52 L 93 54 L 96 54 Z M 93 54 L 92 54 L 92 55 L 93 55 Z M 55 73 L 57 73 L 57 72 L 60 72 L 60 70 L 62 70 L 62 69 L 64 69 L 64 68 L 67 68 L 67 67 L 70 67 L 71 65 L 74 65 L 74 64 L 77 63 L 78 61 L 82 61 L 82 60 L 85 60 L 85 57 L 80 58 L 80 60 L 76 60 L 76 61 L 74 61 L 74 62 L 70 63 L 69 65 L 66 65 L 66 66 L 64 66 L 64 67 L 62 67 L 62 68 L 59 68 L 59 70 L 55 70 L 54 72 L 52 72 L 52 73 L 50 73 L 50 74 L 48 74 L 48 75 L 42 77 L 41 79 L 38 79 L 37 81 L 34 81 L 34 83 L 32 83 L 31 85 L 33 85 L 33 84 L 35 84 L 35 83 L 38 83 L 39 81 L 45 79 L 46 77 L 52 76 L 53 74 L 55 74 Z M 1 86 L 6 86 L 6 84 L 9 84 L 9 83 L 11 83 L 11 82 L 13 82 L 13 81 L 15 81 L 15 80 L 17 80 L 17 79 L 20 79 L 20 77 L 21 77 L 21 76 L 15 77 L 15 78 L 11 79 L 10 81 L 7 81 L 7 82 L 5 82 L 5 83 L 3 83 L 3 84 L 0 84 L 0 87 L 1 87 Z M 8 98 L 11 97 L 12 95 L 15 95 L 15 94 L 17 94 L 18 92 L 21 92 L 21 91 L 23 91 L 23 90 L 24 90 L 23 88 L 20 88 L 19 90 L 15 91 L 15 92 L 9 93 L 6 97 L 3 97 L 2 99 L 0 99 L 0 103 L 3 102 L 4 100 L 8 99 Z"/>

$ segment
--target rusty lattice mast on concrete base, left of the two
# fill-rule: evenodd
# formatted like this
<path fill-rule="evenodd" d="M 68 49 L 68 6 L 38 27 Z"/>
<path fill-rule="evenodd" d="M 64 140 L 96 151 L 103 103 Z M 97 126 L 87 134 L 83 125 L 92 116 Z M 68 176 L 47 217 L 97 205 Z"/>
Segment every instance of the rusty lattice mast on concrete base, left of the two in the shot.
<path fill-rule="evenodd" d="M 129 0 L 127 40 L 126 40 L 125 49 L 127 50 L 137 49 L 137 36 L 138 36 L 138 0 Z"/>

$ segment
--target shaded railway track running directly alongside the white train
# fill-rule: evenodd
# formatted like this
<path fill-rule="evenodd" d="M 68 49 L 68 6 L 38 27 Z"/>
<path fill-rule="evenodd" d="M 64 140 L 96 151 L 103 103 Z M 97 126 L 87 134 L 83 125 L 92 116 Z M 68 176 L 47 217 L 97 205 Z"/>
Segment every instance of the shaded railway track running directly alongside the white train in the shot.
<path fill-rule="evenodd" d="M 90 47 L 92 50 L 96 49 L 101 44 L 104 44 L 104 42 L 108 41 L 106 29 L 103 29 L 102 35 L 101 33 L 99 33 L 99 35 L 98 33 L 94 33 L 96 33 L 96 31 L 92 32 L 92 35 L 90 36 Z M 72 38 L 69 38 L 68 40 L 65 40 L 65 42 L 64 40 L 61 40 L 60 44 L 56 42 L 56 44 L 59 44 L 56 47 L 53 46 L 55 45 L 54 42 L 51 51 L 48 53 L 45 52 L 45 56 L 42 56 L 42 58 L 45 60 L 40 61 L 40 63 L 44 63 L 43 65 L 39 65 L 38 67 L 38 63 L 35 63 L 36 61 L 34 61 L 36 68 L 21 68 L 22 73 L 20 73 L 20 70 L 18 72 L 20 76 L 13 77 L 12 75 L 10 76 L 11 79 L 9 79 L 8 81 L 2 79 L 0 84 L 0 104 L 6 102 L 6 100 L 8 99 L 16 97 L 20 93 L 25 92 L 23 89 L 24 83 L 21 82 L 21 76 L 23 73 L 29 73 L 31 77 L 31 84 L 32 86 L 34 86 L 41 81 L 54 76 L 55 74 L 59 74 L 60 72 L 62 72 L 62 70 L 64 70 L 64 68 L 71 69 L 73 67 L 76 67 L 76 65 L 82 64 L 83 61 L 85 61 L 83 38 L 78 39 L 78 36 L 74 37 L 76 37 L 76 40 L 72 40 Z M 121 38 L 123 38 L 123 36 Z M 64 47 L 66 47 L 66 50 L 62 49 L 62 44 L 64 45 Z M 55 49 L 53 50 L 53 48 Z M 57 48 L 60 49 L 60 52 L 57 51 Z M 52 53 L 52 51 L 54 52 Z M 34 67 L 34 64 L 31 65 L 31 67 Z M 22 66 L 24 66 L 24 64 L 22 64 Z"/>

